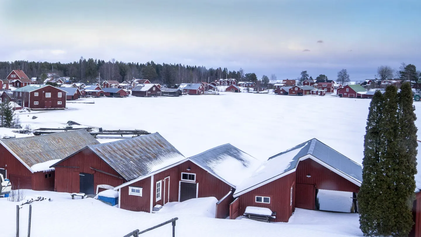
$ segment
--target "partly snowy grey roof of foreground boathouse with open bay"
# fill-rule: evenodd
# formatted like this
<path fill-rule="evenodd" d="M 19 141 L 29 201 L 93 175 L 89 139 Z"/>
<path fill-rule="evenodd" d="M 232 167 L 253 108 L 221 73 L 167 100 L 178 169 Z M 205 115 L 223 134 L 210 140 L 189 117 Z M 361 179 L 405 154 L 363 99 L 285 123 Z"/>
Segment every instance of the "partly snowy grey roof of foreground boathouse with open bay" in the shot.
<path fill-rule="evenodd" d="M 270 157 L 261 164 L 250 177 L 245 178 L 234 192 L 234 197 L 238 197 L 248 191 L 256 189 L 273 180 L 281 178 L 290 172 L 295 171 L 301 158 L 318 159 L 332 171 L 336 171 L 342 177 L 352 183 L 361 186 L 362 166 L 333 150 L 329 146 L 313 138 L 301 143 L 287 151 Z"/>

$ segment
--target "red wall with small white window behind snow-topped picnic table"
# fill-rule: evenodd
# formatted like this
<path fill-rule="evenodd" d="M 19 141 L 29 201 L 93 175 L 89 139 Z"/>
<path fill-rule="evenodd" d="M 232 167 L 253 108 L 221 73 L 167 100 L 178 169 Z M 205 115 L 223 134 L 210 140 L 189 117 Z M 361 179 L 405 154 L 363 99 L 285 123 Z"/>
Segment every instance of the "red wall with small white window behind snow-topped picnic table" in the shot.
<path fill-rule="evenodd" d="M 293 213 L 295 205 L 295 172 L 285 175 L 282 178 L 267 183 L 264 186 L 253 189 L 239 197 L 240 208 L 239 213 L 242 215 L 245 208 L 253 207 L 267 207 L 272 212 L 276 212 L 276 218 L 272 221 L 288 222 Z M 291 187 L 293 187 L 293 203 L 290 205 Z M 256 196 L 270 197 L 270 204 L 255 202 Z"/>

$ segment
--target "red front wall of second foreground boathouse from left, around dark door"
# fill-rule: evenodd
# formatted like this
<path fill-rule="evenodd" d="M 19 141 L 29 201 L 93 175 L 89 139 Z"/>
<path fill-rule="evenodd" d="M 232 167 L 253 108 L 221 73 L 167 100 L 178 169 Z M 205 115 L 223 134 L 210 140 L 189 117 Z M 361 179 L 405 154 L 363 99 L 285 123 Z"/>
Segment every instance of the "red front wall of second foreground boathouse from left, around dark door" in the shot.
<path fill-rule="evenodd" d="M 102 172 L 92 170 L 90 167 L 101 170 L 113 175 L 119 175 L 107 163 L 93 153 L 89 148 L 77 152 L 73 156 L 64 160 L 59 166 L 70 166 L 79 168 L 56 167 L 55 175 L 55 190 L 58 192 L 78 193 L 80 191 L 80 177 L 79 173 L 93 174 L 93 188 L 100 184 L 107 184 L 110 186 L 119 186 L 125 182 L 122 178 L 117 178 L 112 175 L 107 175 Z M 120 176 L 120 175 L 119 175 Z"/>

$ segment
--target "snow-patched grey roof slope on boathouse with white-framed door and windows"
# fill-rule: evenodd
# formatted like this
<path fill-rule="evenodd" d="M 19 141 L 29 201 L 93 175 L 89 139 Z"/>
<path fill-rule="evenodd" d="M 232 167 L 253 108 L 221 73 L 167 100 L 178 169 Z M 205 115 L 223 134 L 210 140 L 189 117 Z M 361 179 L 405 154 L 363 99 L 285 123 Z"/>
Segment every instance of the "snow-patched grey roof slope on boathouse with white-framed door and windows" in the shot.
<path fill-rule="evenodd" d="M 261 164 L 259 160 L 231 144 L 217 146 L 189 159 L 233 187 L 250 176 Z"/>

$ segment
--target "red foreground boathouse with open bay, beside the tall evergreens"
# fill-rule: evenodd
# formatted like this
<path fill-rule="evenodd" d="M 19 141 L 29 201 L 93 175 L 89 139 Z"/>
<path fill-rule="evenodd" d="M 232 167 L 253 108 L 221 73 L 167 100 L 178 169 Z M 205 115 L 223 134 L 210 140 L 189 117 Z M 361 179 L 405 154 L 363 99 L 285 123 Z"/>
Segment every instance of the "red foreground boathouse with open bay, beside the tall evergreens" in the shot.
<path fill-rule="evenodd" d="M 273 221 L 288 222 L 295 208 L 315 209 L 318 189 L 352 192 L 356 197 L 361 182 L 361 165 L 312 139 L 270 157 L 245 178 L 234 192 L 230 218 L 242 215 L 248 206 L 266 207 L 272 210 Z"/>

